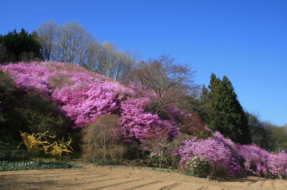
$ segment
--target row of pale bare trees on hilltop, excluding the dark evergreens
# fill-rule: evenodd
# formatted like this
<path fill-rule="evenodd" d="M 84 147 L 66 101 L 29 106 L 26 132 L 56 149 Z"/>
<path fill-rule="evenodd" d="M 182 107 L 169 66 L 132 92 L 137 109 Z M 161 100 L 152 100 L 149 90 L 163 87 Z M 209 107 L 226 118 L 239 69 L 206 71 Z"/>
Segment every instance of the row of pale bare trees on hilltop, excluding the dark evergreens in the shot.
<path fill-rule="evenodd" d="M 113 42 L 105 40 L 101 44 L 78 22 L 58 26 L 50 20 L 43 22 L 37 32 L 45 60 L 78 63 L 114 80 L 130 72 L 140 57 L 131 50 L 117 50 Z"/>

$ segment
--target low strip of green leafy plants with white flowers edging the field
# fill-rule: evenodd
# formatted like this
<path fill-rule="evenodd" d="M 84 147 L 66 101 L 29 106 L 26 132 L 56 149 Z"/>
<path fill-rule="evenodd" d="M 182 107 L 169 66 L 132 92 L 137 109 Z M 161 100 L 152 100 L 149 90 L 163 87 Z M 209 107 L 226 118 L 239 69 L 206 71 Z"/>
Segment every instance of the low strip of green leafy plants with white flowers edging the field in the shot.
<path fill-rule="evenodd" d="M 39 161 L 20 161 L 20 162 L 0 162 L 0 171 L 13 170 L 33 170 L 33 169 L 60 169 L 60 168 L 83 168 L 83 164 L 74 162 L 69 163 L 43 163 Z"/>

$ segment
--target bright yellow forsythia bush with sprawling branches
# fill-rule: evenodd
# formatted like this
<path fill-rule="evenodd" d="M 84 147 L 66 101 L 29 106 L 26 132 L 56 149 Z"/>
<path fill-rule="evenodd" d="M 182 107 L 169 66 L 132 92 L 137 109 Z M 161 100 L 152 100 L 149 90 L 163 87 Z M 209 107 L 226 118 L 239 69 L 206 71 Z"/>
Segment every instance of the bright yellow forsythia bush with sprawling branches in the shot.
<path fill-rule="evenodd" d="M 50 144 L 47 141 L 42 140 L 42 137 L 47 136 L 47 137 L 51 137 L 51 138 L 55 138 L 56 136 L 50 136 L 50 135 L 46 135 L 47 132 L 49 130 L 47 130 L 44 133 L 32 133 L 32 135 L 29 135 L 28 133 L 21 132 L 21 137 L 23 142 L 20 143 L 21 144 L 25 144 L 26 148 L 28 150 L 28 152 L 31 153 L 40 153 L 42 151 L 44 151 L 46 154 L 51 154 L 52 156 L 55 157 L 61 157 L 63 152 L 68 153 L 72 153 L 71 150 L 73 150 L 73 148 L 70 146 L 72 139 L 70 139 L 68 142 L 64 142 L 64 138 L 62 140 L 58 140 L 53 142 L 52 144 Z M 20 145 L 18 146 L 18 148 L 20 147 Z M 68 150 L 68 148 L 71 148 L 71 150 Z"/>

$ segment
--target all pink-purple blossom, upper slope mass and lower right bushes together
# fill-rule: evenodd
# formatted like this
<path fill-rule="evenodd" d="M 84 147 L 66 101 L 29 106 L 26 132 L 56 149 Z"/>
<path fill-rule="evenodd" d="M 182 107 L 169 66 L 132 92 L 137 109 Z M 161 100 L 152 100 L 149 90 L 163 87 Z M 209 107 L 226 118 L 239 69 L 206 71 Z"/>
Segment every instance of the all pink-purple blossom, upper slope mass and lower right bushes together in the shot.
<path fill-rule="evenodd" d="M 150 110 L 151 99 L 156 96 L 152 92 L 144 90 L 142 98 L 132 88 L 109 81 L 105 76 L 76 64 L 22 62 L 4 65 L 1 69 L 15 80 L 19 89 L 38 92 L 54 101 L 64 116 L 74 123 L 74 129 L 85 127 L 103 114 L 118 114 L 122 137 L 126 142 L 143 143 L 162 131 L 166 131 L 169 140 L 172 140 L 180 133 L 173 118 L 184 118 L 184 112 L 171 106 L 167 109 L 170 120 L 163 120 L 157 114 L 146 111 Z M 213 168 L 224 168 L 230 176 L 239 176 L 244 172 L 259 176 L 287 176 L 287 155 L 284 151 L 273 154 L 255 144 L 235 144 L 219 132 L 214 132 L 213 136 L 184 140 L 174 154 L 181 157 L 181 163 L 194 156 L 203 157 L 210 161 Z"/>

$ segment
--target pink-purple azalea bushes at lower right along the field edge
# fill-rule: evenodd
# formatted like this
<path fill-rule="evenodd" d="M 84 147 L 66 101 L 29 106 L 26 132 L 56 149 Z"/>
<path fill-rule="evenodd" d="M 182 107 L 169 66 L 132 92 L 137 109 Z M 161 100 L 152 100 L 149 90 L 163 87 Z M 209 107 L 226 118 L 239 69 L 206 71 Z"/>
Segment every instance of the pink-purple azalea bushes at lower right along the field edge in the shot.
<path fill-rule="evenodd" d="M 174 154 L 180 155 L 181 164 L 194 157 L 202 157 L 210 161 L 213 169 L 224 168 L 230 176 L 239 176 L 243 172 L 268 178 L 272 175 L 279 178 L 287 176 L 287 154 L 284 151 L 274 154 L 256 144 L 235 144 L 219 132 L 214 132 L 213 136 L 205 140 L 194 137 L 182 141 Z"/>

